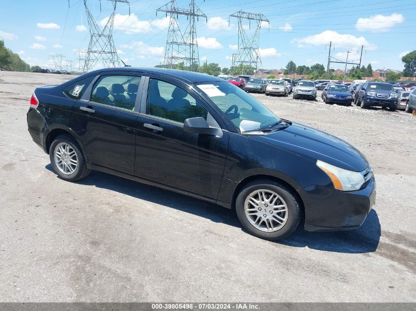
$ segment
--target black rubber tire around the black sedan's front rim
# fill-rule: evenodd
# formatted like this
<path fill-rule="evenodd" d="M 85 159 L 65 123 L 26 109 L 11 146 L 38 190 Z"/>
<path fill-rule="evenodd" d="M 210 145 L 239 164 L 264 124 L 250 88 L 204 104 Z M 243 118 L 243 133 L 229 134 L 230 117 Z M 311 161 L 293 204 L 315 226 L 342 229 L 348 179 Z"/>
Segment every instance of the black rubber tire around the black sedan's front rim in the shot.
<path fill-rule="evenodd" d="M 252 225 L 245 214 L 246 198 L 254 191 L 259 189 L 270 190 L 278 194 L 286 202 L 288 208 L 288 218 L 280 229 L 274 232 L 265 232 Z M 299 225 L 300 222 L 300 207 L 296 199 L 296 195 L 291 192 L 285 185 L 276 181 L 261 179 L 249 182 L 241 189 L 235 201 L 235 209 L 241 225 L 251 234 L 266 240 L 280 240 L 288 237 Z"/>

